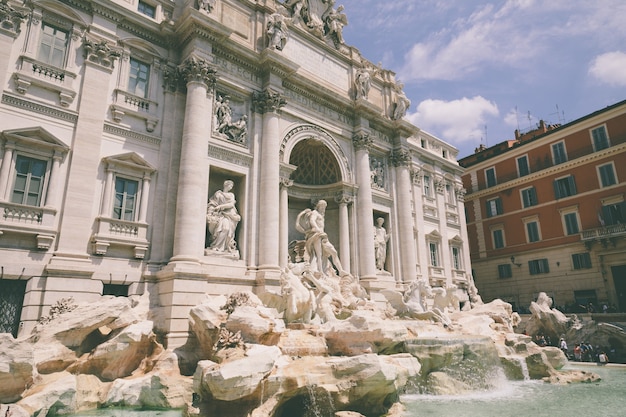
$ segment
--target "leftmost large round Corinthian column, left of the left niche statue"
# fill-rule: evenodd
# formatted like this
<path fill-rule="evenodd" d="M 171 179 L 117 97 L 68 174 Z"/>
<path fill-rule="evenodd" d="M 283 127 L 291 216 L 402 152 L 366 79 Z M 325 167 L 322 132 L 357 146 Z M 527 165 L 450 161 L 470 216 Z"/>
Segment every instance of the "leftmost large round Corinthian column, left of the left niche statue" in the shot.
<path fill-rule="evenodd" d="M 187 84 L 187 102 L 180 152 L 172 262 L 198 263 L 204 251 L 207 202 L 207 142 L 211 131 L 215 70 L 191 57 L 179 68 Z"/>

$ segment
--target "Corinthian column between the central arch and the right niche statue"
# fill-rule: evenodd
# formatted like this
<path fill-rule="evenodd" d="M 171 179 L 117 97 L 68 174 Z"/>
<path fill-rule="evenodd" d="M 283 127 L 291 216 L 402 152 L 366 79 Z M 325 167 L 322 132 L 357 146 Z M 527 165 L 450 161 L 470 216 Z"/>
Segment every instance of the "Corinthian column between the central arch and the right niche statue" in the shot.
<path fill-rule="evenodd" d="M 352 137 L 352 143 L 356 150 L 356 183 L 359 186 L 356 211 L 357 241 L 359 242 L 359 275 L 361 279 L 376 278 L 369 156 L 369 147 L 372 145 L 372 142 L 373 139 L 364 132 L 356 133 Z"/>

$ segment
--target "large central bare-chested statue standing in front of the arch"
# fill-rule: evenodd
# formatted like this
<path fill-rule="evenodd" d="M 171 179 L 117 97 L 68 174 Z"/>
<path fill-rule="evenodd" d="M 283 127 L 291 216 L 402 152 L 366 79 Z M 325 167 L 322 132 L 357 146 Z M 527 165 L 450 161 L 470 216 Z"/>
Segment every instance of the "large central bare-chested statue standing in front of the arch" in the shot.
<path fill-rule="evenodd" d="M 305 251 L 313 270 L 323 275 L 331 275 L 334 266 L 339 276 L 348 275 L 341 266 L 337 250 L 324 231 L 326 206 L 326 200 L 320 200 L 315 209 L 303 210 L 296 219 L 296 230 L 304 233 Z"/>

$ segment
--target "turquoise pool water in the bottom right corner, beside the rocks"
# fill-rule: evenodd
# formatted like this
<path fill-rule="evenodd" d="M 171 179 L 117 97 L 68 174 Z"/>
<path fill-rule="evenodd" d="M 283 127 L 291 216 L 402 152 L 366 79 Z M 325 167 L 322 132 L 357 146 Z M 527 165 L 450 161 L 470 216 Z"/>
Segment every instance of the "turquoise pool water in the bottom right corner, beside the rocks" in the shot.
<path fill-rule="evenodd" d="M 503 381 L 490 392 L 461 396 L 404 395 L 411 417 L 617 417 L 626 415 L 626 367 L 575 366 L 602 381 L 552 385 Z"/>

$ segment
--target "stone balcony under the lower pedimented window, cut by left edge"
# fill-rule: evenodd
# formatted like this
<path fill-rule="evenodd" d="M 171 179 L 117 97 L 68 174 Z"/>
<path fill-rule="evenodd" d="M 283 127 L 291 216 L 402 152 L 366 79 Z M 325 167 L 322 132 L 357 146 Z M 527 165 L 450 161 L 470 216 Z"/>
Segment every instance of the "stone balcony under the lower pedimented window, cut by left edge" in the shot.
<path fill-rule="evenodd" d="M 36 238 L 37 249 L 48 250 L 57 236 L 57 210 L 0 202 L 0 235 L 16 233 Z"/>

